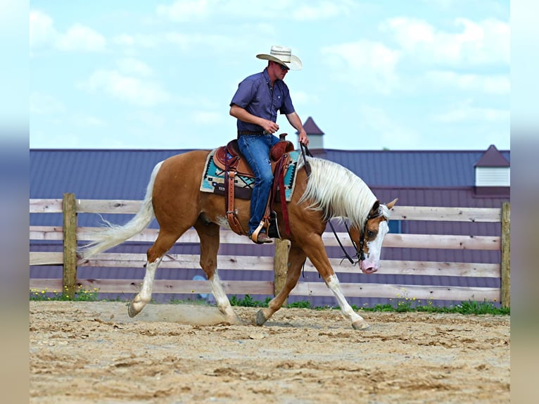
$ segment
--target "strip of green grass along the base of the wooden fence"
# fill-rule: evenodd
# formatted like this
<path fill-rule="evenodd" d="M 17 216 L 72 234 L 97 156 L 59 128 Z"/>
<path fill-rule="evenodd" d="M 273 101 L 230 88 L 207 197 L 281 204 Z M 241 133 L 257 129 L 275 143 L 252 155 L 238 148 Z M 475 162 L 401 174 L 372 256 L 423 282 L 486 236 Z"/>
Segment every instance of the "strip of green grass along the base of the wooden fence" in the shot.
<path fill-rule="evenodd" d="M 31 301 L 110 301 L 110 299 L 99 299 L 98 298 L 99 289 L 94 288 L 91 291 L 79 288 L 75 291 L 75 296 L 69 296 L 65 291 L 47 291 L 45 289 L 30 290 L 30 300 Z M 267 297 L 265 301 L 256 301 L 250 295 L 246 294 L 243 298 L 238 298 L 237 296 L 230 296 L 229 301 L 233 306 L 241 307 L 267 307 L 268 303 L 272 298 Z M 372 307 L 364 305 L 361 308 L 358 308 L 356 305 L 352 305 L 352 308 L 356 311 L 363 310 L 367 312 L 391 312 L 391 313 L 458 313 L 463 315 L 510 315 L 510 308 L 496 307 L 493 302 L 490 301 L 463 301 L 458 305 L 450 306 L 436 306 L 433 305 L 431 301 L 428 301 L 426 304 L 422 304 L 421 301 L 418 301 L 416 298 L 398 298 L 395 302 L 393 299 L 389 299 L 391 303 L 385 304 L 376 304 Z M 119 301 L 115 299 L 115 301 Z M 179 304 L 186 303 L 186 301 L 181 301 L 178 299 L 171 299 L 170 303 Z M 189 300 L 187 303 L 199 303 L 207 304 L 205 301 L 192 301 Z M 338 307 L 323 306 L 323 307 L 312 307 L 309 301 L 298 301 L 294 303 L 288 303 L 286 308 L 307 308 L 313 310 L 337 310 Z"/>

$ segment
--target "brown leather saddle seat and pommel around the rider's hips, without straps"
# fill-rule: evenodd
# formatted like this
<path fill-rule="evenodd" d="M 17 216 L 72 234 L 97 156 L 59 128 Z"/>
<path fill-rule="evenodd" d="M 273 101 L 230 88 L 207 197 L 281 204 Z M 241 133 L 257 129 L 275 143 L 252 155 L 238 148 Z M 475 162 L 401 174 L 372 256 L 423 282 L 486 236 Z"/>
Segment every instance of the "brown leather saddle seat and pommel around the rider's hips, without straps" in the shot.
<path fill-rule="evenodd" d="M 291 141 L 288 140 L 279 141 L 279 143 L 272 147 L 270 151 L 272 172 L 274 172 L 275 165 L 277 164 L 281 156 L 283 156 L 284 153 L 290 153 L 291 151 L 294 151 L 294 145 Z M 217 148 L 213 155 L 213 163 L 217 166 L 217 168 L 225 170 L 227 165 L 227 158 L 230 161 L 236 157 L 239 159 L 236 165 L 237 174 L 243 177 L 254 178 L 255 175 L 253 173 L 253 170 L 251 170 L 251 167 L 249 167 L 249 164 L 247 163 L 246 159 L 241 155 L 241 152 L 239 151 L 238 147 L 238 141 L 236 139 L 229 141 L 227 146 L 220 146 L 219 148 Z"/>

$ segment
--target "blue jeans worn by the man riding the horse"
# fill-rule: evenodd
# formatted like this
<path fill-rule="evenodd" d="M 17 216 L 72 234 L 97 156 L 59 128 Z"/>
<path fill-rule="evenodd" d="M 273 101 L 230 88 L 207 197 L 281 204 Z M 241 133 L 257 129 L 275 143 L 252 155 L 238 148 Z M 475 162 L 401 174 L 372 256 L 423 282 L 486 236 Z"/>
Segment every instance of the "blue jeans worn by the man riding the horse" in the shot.
<path fill-rule="evenodd" d="M 255 184 L 251 195 L 249 236 L 260 225 L 266 209 L 267 199 L 270 197 L 273 182 L 270 149 L 277 142 L 279 142 L 279 138 L 272 134 L 248 134 L 240 136 L 238 139 L 239 151 L 246 158 L 255 175 Z"/>

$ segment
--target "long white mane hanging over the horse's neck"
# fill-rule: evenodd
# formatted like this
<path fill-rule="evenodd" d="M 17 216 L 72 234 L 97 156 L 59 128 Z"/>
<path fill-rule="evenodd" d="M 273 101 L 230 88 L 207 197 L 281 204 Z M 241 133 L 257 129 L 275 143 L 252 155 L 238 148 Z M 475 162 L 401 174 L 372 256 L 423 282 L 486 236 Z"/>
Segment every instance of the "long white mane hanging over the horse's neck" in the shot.
<path fill-rule="evenodd" d="M 348 168 L 332 161 L 307 157 L 307 163 L 311 174 L 298 203 L 310 201 L 307 208 L 322 210 L 324 219 L 346 217 L 351 225 L 362 227 L 376 202 L 376 196 L 367 184 Z M 300 167 L 303 167 L 301 158 L 298 170 Z M 382 213 L 387 217 L 388 209 L 382 208 Z"/>

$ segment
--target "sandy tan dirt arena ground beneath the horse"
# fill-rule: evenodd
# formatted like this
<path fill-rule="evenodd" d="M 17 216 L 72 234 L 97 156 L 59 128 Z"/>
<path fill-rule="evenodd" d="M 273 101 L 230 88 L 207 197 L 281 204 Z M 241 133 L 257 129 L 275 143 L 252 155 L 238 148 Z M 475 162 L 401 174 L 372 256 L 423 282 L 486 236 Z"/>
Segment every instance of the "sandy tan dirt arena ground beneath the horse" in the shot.
<path fill-rule="evenodd" d="M 30 403 L 509 403 L 509 316 L 30 302 Z"/>

